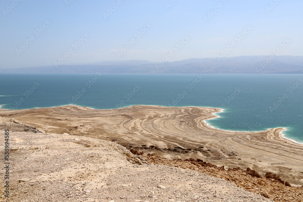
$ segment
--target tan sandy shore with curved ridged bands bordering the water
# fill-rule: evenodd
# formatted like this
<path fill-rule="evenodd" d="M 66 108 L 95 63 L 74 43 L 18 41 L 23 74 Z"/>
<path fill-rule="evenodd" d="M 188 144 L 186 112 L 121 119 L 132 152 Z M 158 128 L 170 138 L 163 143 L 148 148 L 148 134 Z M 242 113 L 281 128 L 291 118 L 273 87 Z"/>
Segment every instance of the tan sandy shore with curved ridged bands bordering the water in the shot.
<path fill-rule="evenodd" d="M 136 105 L 96 110 L 78 106 L 0 110 L 47 133 L 88 136 L 167 159 L 200 158 L 225 168 L 273 172 L 292 185 L 303 184 L 303 145 L 281 136 L 284 128 L 231 132 L 209 127 L 217 108 Z M 237 124 L 237 123 L 235 123 Z"/>

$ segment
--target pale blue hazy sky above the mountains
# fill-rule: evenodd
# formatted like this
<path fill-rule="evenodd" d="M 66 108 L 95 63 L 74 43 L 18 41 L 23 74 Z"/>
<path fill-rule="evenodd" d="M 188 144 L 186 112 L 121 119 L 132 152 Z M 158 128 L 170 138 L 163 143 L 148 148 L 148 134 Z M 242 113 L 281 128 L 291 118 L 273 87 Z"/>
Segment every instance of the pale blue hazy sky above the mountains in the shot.
<path fill-rule="evenodd" d="M 301 56 L 302 8 L 301 0 L 1 0 L 0 69 Z"/>

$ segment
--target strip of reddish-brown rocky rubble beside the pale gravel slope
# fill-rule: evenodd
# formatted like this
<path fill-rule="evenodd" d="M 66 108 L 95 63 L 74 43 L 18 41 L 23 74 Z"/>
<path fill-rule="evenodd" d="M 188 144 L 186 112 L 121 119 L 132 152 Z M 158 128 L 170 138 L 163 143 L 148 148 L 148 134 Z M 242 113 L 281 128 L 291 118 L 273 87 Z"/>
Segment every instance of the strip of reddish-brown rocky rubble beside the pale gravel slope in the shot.
<path fill-rule="evenodd" d="M 239 167 L 225 170 L 224 166 L 217 167 L 201 159 L 168 160 L 155 154 L 142 154 L 132 149 L 131 151 L 139 155 L 139 158 L 144 159 L 148 164 L 160 164 L 199 171 L 213 177 L 234 182 L 238 187 L 273 199 L 274 201 L 303 201 L 303 186 L 292 187 L 288 181 L 282 180 L 278 175 L 271 172 L 267 172 L 262 177 L 258 172 L 249 167 L 246 170 L 242 170 Z"/>

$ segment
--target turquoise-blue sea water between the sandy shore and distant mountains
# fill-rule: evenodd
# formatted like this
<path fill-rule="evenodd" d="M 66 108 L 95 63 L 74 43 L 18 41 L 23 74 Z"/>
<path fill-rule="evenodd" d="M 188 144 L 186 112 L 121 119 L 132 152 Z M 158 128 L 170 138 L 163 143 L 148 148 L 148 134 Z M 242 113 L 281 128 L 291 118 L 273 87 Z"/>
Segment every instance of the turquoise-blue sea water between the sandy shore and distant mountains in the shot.
<path fill-rule="evenodd" d="M 203 77 L 203 78 L 202 78 Z M 0 74 L 0 107 L 67 104 L 96 109 L 132 105 L 223 108 L 208 124 L 231 131 L 285 127 L 303 143 L 303 75 Z"/>

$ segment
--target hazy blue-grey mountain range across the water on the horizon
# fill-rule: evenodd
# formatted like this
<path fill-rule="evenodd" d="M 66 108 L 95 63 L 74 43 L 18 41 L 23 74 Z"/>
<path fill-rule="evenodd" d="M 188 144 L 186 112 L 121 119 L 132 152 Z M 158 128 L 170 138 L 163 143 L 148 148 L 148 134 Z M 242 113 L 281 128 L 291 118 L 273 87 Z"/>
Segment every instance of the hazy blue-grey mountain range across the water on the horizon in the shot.
<path fill-rule="evenodd" d="M 2 73 L 303 74 L 303 56 L 239 56 L 220 60 L 191 58 L 173 62 L 102 61 L 1 71 Z"/>

